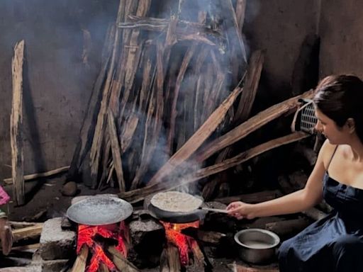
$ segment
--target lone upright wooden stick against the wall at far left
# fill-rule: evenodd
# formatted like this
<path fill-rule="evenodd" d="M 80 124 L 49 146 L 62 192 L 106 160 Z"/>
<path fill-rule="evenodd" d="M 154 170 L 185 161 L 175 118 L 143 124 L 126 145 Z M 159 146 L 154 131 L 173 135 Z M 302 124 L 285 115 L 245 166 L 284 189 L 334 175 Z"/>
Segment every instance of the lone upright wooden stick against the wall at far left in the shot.
<path fill-rule="evenodd" d="M 13 75 L 13 101 L 11 107 L 11 176 L 13 198 L 17 205 L 26 202 L 23 169 L 23 62 L 24 40 L 17 42 L 11 64 Z"/>

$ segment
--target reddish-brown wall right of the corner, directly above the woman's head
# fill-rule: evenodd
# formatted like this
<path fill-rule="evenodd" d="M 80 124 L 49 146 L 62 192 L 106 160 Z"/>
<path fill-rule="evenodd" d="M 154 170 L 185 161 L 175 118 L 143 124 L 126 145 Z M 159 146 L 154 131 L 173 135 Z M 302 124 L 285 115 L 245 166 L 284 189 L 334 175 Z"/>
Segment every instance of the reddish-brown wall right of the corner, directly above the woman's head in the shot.
<path fill-rule="evenodd" d="M 320 77 L 356 74 L 363 77 L 363 1 L 322 0 L 319 32 Z"/>

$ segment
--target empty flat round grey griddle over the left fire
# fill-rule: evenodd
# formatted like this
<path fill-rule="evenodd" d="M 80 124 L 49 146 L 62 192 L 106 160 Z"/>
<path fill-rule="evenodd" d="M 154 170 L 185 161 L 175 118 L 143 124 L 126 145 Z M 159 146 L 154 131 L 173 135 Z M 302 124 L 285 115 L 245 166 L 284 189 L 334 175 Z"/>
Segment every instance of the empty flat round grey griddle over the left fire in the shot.
<path fill-rule="evenodd" d="M 98 226 L 121 222 L 132 213 L 133 206 L 121 198 L 94 196 L 71 205 L 67 217 L 78 224 Z"/>

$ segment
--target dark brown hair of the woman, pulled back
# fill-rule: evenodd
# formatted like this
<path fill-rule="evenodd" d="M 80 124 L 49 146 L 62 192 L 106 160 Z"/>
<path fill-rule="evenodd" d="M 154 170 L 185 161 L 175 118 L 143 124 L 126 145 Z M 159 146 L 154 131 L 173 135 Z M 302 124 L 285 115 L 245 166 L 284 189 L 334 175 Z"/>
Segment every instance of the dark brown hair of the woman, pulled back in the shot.
<path fill-rule="evenodd" d="M 363 81 L 352 75 L 333 75 L 322 79 L 315 88 L 315 106 L 342 127 L 353 118 L 363 143 Z"/>

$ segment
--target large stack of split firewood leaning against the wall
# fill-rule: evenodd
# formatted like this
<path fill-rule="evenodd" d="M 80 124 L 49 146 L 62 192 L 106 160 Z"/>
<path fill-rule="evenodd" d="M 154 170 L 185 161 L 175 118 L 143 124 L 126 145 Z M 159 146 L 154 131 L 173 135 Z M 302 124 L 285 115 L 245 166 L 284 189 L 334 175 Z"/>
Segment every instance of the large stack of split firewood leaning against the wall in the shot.
<path fill-rule="evenodd" d="M 245 0 L 167 2 L 175 8 L 158 18 L 159 1 L 120 0 L 69 169 L 91 188 L 117 183 L 131 202 L 306 137 L 296 132 L 231 157 L 231 145 L 311 91 L 250 118 L 264 56 L 247 58 Z"/>

